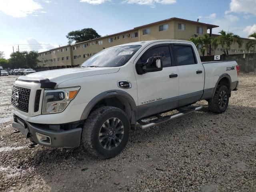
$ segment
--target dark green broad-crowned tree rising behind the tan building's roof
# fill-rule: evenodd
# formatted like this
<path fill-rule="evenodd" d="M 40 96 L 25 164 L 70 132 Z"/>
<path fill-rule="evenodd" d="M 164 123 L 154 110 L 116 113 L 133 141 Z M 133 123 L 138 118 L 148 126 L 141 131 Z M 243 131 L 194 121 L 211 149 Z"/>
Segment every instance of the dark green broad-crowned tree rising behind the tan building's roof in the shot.
<path fill-rule="evenodd" d="M 68 33 L 68 35 L 66 35 L 66 38 L 68 38 L 68 44 L 72 44 L 74 41 L 75 43 L 80 43 L 99 37 L 101 36 L 96 32 L 96 30 L 92 28 L 84 28 L 81 30 L 71 31 Z"/>

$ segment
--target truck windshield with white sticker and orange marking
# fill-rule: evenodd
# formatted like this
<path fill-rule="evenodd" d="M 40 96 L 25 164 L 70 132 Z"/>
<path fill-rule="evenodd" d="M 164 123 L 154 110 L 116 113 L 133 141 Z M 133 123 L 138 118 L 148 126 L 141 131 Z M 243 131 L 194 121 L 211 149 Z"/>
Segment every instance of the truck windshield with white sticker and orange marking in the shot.
<path fill-rule="evenodd" d="M 120 47 L 112 47 L 98 52 L 88 60 L 82 67 L 120 67 L 132 58 L 132 56 L 140 49 L 141 45 L 127 45 Z"/>

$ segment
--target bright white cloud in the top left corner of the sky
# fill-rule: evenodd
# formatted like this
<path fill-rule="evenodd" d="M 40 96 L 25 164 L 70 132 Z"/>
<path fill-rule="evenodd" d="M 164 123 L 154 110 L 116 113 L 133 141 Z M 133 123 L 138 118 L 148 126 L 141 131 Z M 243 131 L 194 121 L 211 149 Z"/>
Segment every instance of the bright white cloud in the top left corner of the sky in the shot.
<path fill-rule="evenodd" d="M 0 0 L 0 11 L 13 17 L 35 14 L 42 6 L 34 0 Z"/>

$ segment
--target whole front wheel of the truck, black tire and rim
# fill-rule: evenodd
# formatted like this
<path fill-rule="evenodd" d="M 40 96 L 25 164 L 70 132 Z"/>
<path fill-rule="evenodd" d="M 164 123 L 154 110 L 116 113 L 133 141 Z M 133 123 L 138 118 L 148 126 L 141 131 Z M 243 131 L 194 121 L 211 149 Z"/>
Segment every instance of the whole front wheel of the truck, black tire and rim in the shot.
<path fill-rule="evenodd" d="M 102 159 L 118 155 L 126 146 L 130 122 L 126 113 L 116 107 L 104 106 L 94 110 L 82 130 L 82 146 Z"/>

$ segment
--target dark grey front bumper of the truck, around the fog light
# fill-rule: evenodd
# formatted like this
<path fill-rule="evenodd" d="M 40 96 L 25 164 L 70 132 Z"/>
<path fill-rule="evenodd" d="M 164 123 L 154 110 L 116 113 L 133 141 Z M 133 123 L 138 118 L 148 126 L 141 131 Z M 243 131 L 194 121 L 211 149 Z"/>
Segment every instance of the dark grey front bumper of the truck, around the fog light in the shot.
<path fill-rule="evenodd" d="M 12 126 L 19 130 L 26 138 L 37 144 L 49 147 L 72 148 L 80 145 L 82 128 L 74 128 L 70 130 L 54 131 L 43 128 L 38 124 L 27 122 L 18 116 L 14 117 Z M 39 141 L 36 133 L 42 134 L 50 138 L 49 142 Z"/>

